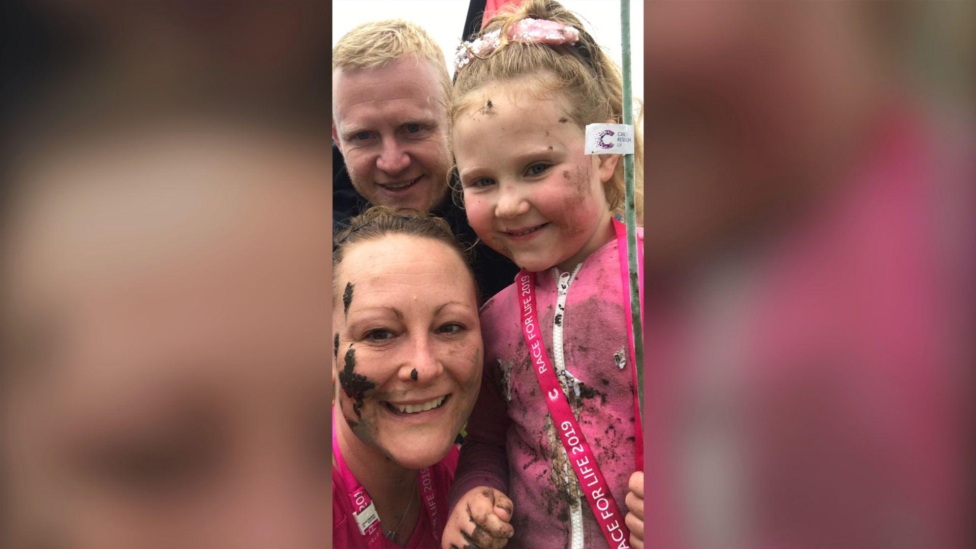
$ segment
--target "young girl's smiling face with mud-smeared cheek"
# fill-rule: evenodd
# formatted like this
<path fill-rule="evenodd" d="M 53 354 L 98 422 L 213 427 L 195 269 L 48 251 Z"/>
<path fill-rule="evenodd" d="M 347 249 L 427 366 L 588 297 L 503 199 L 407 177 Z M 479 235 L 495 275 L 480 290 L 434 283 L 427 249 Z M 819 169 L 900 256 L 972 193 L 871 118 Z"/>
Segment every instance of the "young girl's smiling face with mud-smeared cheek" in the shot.
<path fill-rule="evenodd" d="M 605 241 L 602 184 L 617 157 L 584 154 L 583 129 L 551 94 L 489 85 L 474 98 L 452 135 L 468 223 L 521 268 L 572 269 Z"/>

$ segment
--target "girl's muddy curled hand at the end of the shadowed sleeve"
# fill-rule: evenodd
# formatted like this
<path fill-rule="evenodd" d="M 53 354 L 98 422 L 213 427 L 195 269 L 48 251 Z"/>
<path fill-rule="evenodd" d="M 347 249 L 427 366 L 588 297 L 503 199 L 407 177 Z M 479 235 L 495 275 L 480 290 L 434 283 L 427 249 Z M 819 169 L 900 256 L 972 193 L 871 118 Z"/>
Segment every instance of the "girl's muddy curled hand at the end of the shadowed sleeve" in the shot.
<path fill-rule="evenodd" d="M 511 500 L 488 486 L 471 488 L 454 506 L 441 537 L 442 549 L 501 549 L 515 533 Z"/>

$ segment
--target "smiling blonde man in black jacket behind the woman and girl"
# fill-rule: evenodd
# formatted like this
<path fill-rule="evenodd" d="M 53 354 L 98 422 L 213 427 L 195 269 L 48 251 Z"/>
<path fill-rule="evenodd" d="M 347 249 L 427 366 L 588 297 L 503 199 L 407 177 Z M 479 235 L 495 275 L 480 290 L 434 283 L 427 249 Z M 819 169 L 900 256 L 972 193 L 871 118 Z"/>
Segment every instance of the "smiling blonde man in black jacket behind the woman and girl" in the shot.
<path fill-rule="evenodd" d="M 443 51 L 414 23 L 367 22 L 339 40 L 332 51 L 334 232 L 379 204 L 432 212 L 475 241 L 449 192 L 450 94 Z M 484 298 L 517 271 L 486 246 L 476 248 L 474 270 Z"/>

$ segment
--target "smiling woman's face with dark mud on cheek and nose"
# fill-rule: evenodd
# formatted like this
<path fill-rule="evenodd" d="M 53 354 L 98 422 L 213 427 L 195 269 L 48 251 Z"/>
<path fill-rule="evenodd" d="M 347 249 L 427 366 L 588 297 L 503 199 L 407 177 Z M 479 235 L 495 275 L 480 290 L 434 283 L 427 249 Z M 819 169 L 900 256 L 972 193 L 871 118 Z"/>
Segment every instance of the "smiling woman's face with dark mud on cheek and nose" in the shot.
<path fill-rule="evenodd" d="M 402 466 L 431 465 L 448 452 L 477 397 L 482 344 L 473 280 L 446 244 L 403 234 L 352 245 L 338 269 L 337 421 Z"/>

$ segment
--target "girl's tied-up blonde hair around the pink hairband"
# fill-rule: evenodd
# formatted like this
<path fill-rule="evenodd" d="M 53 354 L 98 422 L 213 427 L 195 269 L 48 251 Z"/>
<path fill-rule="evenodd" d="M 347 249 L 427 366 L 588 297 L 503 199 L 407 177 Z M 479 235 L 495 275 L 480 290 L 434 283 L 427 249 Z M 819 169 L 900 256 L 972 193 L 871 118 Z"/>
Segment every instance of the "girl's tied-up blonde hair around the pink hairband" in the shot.
<path fill-rule="evenodd" d="M 510 6 L 510 5 L 509 5 Z M 508 6 L 485 24 L 483 35 L 502 29 L 501 46 L 488 55 L 475 56 L 458 69 L 454 80 L 451 120 L 475 106 L 475 94 L 483 86 L 513 81 L 530 90 L 560 94 L 566 102 L 567 115 L 586 129 L 587 124 L 612 120 L 623 123 L 624 85 L 620 67 L 614 63 L 584 29 L 582 22 L 554 0 L 526 0 L 512 9 Z M 508 27 L 526 18 L 556 21 L 580 31 L 576 44 L 543 45 L 508 39 Z M 634 117 L 634 206 L 637 223 L 643 224 L 644 202 L 644 144 L 640 131 L 642 108 Z M 624 212 L 624 162 L 617 163 L 613 177 L 604 185 L 611 214 Z"/>

